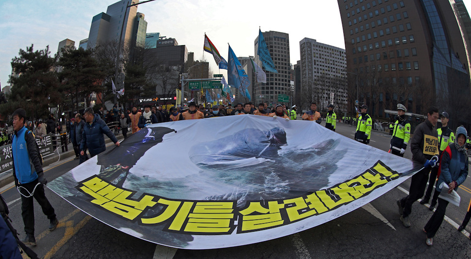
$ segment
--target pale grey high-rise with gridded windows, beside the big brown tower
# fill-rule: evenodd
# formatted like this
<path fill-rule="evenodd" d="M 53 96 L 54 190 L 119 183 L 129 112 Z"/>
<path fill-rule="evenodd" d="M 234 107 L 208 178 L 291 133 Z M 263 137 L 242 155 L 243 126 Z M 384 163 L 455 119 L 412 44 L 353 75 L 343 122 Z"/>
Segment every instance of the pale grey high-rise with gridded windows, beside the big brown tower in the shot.
<path fill-rule="evenodd" d="M 347 108 L 345 49 L 309 38 L 303 38 L 299 42 L 299 47 L 303 107 L 316 102 L 321 111 L 329 104 L 333 104 L 336 111 L 345 111 Z"/>

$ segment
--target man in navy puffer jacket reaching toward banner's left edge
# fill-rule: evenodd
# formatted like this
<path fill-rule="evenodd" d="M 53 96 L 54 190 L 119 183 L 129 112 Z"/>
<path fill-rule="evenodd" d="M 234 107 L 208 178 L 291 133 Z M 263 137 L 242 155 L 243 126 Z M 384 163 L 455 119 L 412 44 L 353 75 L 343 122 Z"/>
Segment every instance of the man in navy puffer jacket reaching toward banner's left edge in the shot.
<path fill-rule="evenodd" d="M 82 142 L 80 144 L 80 155 L 85 155 L 85 149 L 88 148 L 90 157 L 96 156 L 106 150 L 105 139 L 103 134 L 106 134 L 108 138 L 119 146 L 118 139 L 115 137 L 110 128 L 106 126 L 106 123 L 100 118 L 100 115 L 93 113 L 92 108 L 86 108 L 84 112 L 85 126 L 84 132 L 82 132 Z"/>

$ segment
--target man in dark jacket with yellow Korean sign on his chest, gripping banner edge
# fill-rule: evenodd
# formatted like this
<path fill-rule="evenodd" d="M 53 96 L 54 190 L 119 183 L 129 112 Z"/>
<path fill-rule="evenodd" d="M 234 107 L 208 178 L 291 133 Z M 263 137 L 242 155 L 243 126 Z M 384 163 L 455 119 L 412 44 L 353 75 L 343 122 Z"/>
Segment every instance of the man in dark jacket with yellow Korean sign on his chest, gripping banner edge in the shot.
<path fill-rule="evenodd" d="M 436 161 L 432 157 L 438 155 L 437 125 L 438 109 L 432 107 L 427 113 L 427 119 L 419 124 L 414 132 L 410 143 L 412 160 L 423 164 L 423 169 L 412 176 L 409 187 L 409 195 L 397 200 L 399 214 L 404 227 L 410 227 L 409 215 L 412 211 L 412 204 L 422 197 L 427 185 L 428 174 Z"/>

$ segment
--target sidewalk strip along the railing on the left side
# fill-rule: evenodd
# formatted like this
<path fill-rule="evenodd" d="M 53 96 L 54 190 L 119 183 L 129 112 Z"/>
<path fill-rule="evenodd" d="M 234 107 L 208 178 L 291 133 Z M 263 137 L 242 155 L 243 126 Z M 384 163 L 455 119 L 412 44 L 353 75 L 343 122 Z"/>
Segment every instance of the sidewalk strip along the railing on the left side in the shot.
<path fill-rule="evenodd" d="M 105 138 L 105 145 L 111 143 L 111 140 L 106 136 L 103 135 Z M 120 133 L 118 136 L 118 141 L 121 141 L 124 139 L 123 135 Z M 67 138 L 68 140 L 68 138 Z M 69 157 L 75 156 L 74 148 L 72 146 L 72 143 L 67 144 L 67 151 L 62 152 L 62 147 L 59 146 L 57 149 L 54 151 L 54 153 L 48 155 L 47 157 L 43 158 L 43 167 L 46 167 L 50 165 L 51 163 L 59 162 L 61 160 L 65 160 Z M 15 178 L 13 178 L 13 170 L 9 170 L 6 172 L 3 172 L 0 174 L 0 188 L 2 188 L 5 185 L 8 185 L 14 181 Z"/>

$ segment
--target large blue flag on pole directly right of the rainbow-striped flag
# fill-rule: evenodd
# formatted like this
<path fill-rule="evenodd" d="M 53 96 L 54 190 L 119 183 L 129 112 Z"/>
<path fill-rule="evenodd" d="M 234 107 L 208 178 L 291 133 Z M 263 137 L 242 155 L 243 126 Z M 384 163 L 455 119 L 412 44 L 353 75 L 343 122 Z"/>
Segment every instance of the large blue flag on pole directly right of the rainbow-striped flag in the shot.
<path fill-rule="evenodd" d="M 229 85 L 239 89 L 240 94 L 243 97 L 247 97 L 246 90 L 250 84 L 249 76 L 247 76 L 244 68 L 240 65 L 240 62 L 235 56 L 234 51 L 232 51 L 231 46 L 229 46 L 229 62 L 227 66 L 227 79 Z"/>

